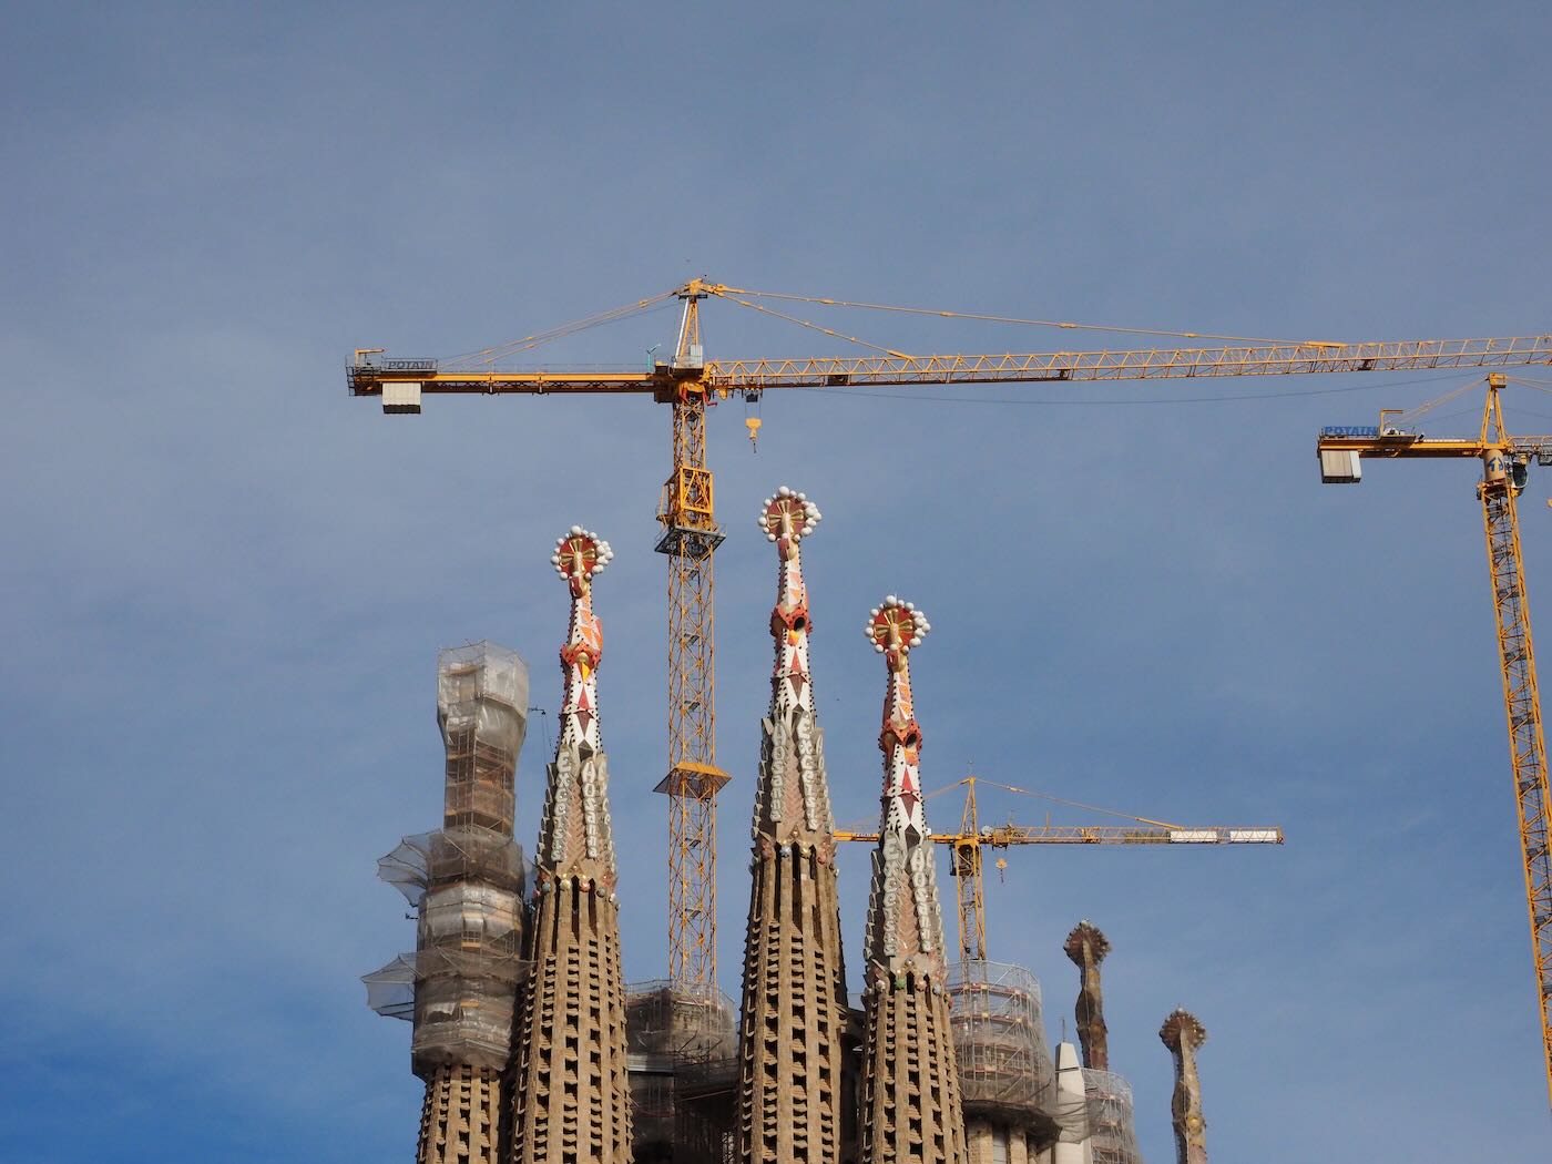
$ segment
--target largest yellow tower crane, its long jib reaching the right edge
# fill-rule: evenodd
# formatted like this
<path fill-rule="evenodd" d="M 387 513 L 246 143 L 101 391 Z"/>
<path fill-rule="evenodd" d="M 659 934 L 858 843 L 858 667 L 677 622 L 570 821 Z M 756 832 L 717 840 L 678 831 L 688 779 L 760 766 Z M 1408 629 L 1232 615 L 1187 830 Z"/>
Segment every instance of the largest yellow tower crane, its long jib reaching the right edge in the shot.
<path fill-rule="evenodd" d="M 826 359 L 708 360 L 700 341 L 700 304 L 719 298 L 874 349 Z M 670 360 L 613 371 L 511 368 L 509 360 L 553 340 L 613 323 L 674 300 L 681 304 Z M 1041 324 L 1080 331 L 1175 337 L 1192 346 L 1139 349 L 908 355 L 778 310 L 771 301 L 858 307 L 933 318 Z M 1203 346 L 1200 341 L 1211 340 Z M 864 388 L 882 385 L 1031 383 L 1041 380 L 1175 380 L 1225 376 L 1386 372 L 1552 363 L 1552 335 L 1380 343 L 1268 341 L 1130 327 L 1093 327 L 970 312 L 784 295 L 691 279 L 681 287 L 452 359 L 388 357 L 359 348 L 346 377 L 354 396 L 377 396 L 385 413 L 419 413 L 425 396 L 594 394 L 649 396 L 674 414 L 674 464 L 663 489 L 656 549 L 669 557 L 669 757 L 658 792 L 669 796 L 669 975 L 675 989 L 702 993 L 717 978 L 715 798 L 728 782 L 717 767 L 712 556 L 722 529 L 706 464 L 706 408 L 737 393 L 756 402 L 767 388 Z M 753 417 L 751 417 L 753 419 Z M 750 424 L 751 436 L 757 425 Z"/>

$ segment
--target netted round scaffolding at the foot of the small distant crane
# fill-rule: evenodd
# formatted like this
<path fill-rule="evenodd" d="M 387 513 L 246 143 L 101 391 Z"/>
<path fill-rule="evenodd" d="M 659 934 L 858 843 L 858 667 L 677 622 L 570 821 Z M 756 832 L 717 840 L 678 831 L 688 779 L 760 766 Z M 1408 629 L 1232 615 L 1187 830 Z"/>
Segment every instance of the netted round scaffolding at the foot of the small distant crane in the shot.
<path fill-rule="evenodd" d="M 948 970 L 948 1015 L 965 1113 L 1040 1113 L 1055 1069 L 1035 976 L 1006 962 L 958 962 Z"/>

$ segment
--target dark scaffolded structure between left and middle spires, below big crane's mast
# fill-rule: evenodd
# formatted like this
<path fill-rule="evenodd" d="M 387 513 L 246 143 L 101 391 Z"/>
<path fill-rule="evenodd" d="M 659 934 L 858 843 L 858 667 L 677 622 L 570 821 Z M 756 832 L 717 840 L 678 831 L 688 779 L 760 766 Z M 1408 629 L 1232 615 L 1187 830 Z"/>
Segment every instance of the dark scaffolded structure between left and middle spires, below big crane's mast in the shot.
<path fill-rule="evenodd" d="M 625 987 L 636 1164 L 731 1164 L 737 1155 L 737 1006 L 669 979 Z M 728 1156 L 728 1153 L 733 1156 Z"/>

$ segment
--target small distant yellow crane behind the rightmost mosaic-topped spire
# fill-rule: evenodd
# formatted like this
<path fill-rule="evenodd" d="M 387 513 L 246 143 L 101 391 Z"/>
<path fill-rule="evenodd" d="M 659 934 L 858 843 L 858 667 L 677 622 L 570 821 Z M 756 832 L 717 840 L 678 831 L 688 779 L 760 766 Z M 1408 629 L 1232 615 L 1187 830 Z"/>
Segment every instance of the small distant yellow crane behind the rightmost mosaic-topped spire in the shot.
<path fill-rule="evenodd" d="M 986 896 L 981 872 L 981 850 L 986 847 L 1007 849 L 1013 844 L 1282 844 L 1282 829 L 1277 827 L 1189 827 L 1167 821 L 1150 821 L 1145 816 L 1130 816 L 1133 824 L 981 824 L 976 804 L 978 784 L 1023 796 L 1041 795 L 1027 788 L 1015 788 L 1010 784 L 984 781 L 979 776 L 965 776 L 958 784 L 948 785 L 965 790 L 959 832 L 934 833 L 933 840 L 953 849 L 951 872 L 954 892 L 959 899 L 959 958 L 965 962 L 978 962 L 986 958 Z M 947 790 L 939 788 L 937 792 Z M 1071 804 L 1071 801 L 1060 802 Z M 835 840 L 877 844 L 878 833 L 838 829 Z M 1007 861 L 998 857 L 996 868 L 1006 866 Z"/>

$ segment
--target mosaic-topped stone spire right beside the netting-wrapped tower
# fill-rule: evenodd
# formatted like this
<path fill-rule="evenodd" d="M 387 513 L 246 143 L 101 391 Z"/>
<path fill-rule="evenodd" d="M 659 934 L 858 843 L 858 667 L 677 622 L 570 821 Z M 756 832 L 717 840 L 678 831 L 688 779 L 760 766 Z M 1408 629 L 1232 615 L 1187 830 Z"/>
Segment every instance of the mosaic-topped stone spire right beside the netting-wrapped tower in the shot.
<path fill-rule="evenodd" d="M 571 526 L 549 559 L 571 590 L 565 692 L 534 855 L 534 936 L 514 1058 L 512 1164 L 629 1164 L 619 899 L 599 737 L 604 633 L 593 577 L 608 542 Z"/>

